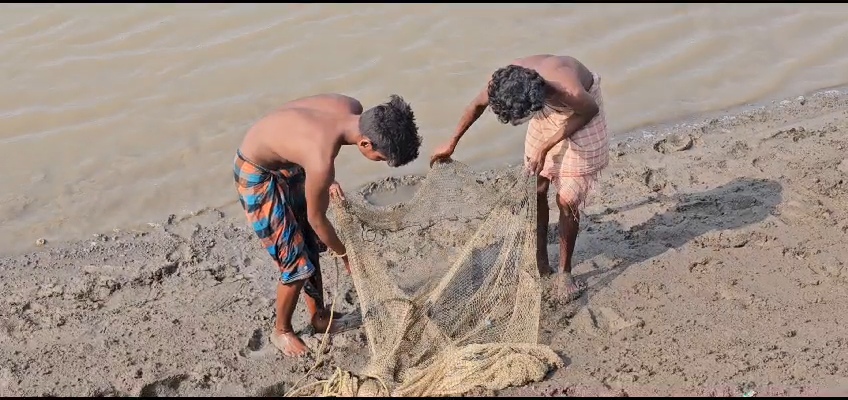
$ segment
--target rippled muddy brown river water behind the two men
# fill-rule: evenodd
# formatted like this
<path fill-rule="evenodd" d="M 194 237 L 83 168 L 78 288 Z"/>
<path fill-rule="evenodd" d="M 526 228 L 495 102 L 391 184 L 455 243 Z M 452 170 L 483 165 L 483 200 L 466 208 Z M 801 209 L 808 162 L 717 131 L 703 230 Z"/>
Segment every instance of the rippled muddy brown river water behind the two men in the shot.
<path fill-rule="evenodd" d="M 847 5 L 5 4 L 0 251 L 234 208 L 245 129 L 285 100 L 409 100 L 428 154 L 486 74 L 569 54 L 604 77 L 617 135 L 848 83 Z M 491 115 L 457 157 L 518 158 Z M 397 170 L 340 156 L 347 190 Z"/>

